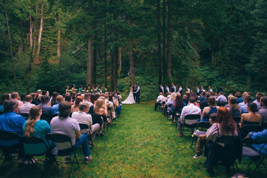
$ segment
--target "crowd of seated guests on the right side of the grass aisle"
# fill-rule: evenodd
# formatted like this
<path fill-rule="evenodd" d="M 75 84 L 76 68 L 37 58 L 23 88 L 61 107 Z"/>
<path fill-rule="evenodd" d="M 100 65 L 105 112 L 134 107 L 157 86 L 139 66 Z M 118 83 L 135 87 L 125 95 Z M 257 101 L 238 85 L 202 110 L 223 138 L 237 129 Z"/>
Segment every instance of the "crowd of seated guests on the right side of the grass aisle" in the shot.
<path fill-rule="evenodd" d="M 156 100 L 154 110 L 162 110 L 167 117 L 172 117 L 174 123 L 177 122 L 178 137 L 182 137 L 182 127 L 184 124 L 192 125 L 198 122 L 210 122 L 210 127 L 206 134 L 200 135 L 196 144 L 196 155 L 194 159 L 202 157 L 202 149 L 205 146 L 207 150 L 207 169 L 210 176 L 213 176 L 213 162 L 209 159 L 209 148 L 216 144 L 216 138 L 222 135 L 240 135 L 244 125 L 261 125 L 262 131 L 250 132 L 243 137 L 251 137 L 258 141 L 267 141 L 267 96 L 263 92 L 257 92 L 255 99 L 250 92 L 230 93 L 228 96 L 219 91 L 215 93 L 211 86 L 205 91 L 201 86 L 196 86 L 196 92 L 186 86 L 184 95 L 182 94 L 182 85 L 179 90 L 172 83 L 171 91 L 168 86 L 164 89 L 160 85 L 160 93 Z M 181 92 L 180 92 L 181 91 Z M 185 120 L 186 115 L 199 115 L 200 119 Z M 185 123 L 184 123 L 185 122 Z M 194 133 L 194 129 L 191 133 Z M 212 143 L 212 144 L 211 144 Z M 261 145 L 262 146 L 262 145 Z M 260 146 L 252 145 L 256 150 L 260 150 Z M 205 152 L 206 152 L 205 150 Z M 261 150 L 263 154 L 267 154 L 267 145 Z"/>

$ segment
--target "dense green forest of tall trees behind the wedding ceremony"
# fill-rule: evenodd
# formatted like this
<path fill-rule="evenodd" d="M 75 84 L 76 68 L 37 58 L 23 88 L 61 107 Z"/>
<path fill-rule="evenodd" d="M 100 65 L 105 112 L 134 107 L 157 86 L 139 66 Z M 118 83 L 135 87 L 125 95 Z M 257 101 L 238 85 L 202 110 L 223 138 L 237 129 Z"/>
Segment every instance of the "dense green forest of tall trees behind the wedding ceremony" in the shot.
<path fill-rule="evenodd" d="M 267 92 L 267 0 L 0 0 L 0 94 L 99 84 Z"/>

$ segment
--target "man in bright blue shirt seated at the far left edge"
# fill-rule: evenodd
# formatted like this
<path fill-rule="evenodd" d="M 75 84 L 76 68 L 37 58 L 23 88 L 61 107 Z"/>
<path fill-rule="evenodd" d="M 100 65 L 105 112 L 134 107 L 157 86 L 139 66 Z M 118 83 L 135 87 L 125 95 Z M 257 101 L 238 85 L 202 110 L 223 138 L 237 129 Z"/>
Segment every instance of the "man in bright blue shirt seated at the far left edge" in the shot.
<path fill-rule="evenodd" d="M 18 100 L 10 99 L 4 102 L 4 113 L 0 115 L 0 131 L 15 132 L 19 136 L 23 136 L 22 126 L 25 122 L 23 116 L 18 113 Z M 1 145 L 13 145 L 17 144 L 19 149 L 18 159 L 23 159 L 25 154 L 23 145 L 18 140 L 14 141 L 0 141 Z"/>

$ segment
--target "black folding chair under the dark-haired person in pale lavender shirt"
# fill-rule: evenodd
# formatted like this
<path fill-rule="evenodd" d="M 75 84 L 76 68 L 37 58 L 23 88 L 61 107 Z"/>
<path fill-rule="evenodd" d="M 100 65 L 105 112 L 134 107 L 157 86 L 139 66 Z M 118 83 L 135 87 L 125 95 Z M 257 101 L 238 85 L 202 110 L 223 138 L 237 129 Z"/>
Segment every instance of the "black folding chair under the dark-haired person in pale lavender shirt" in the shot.
<path fill-rule="evenodd" d="M 57 143 L 63 143 L 63 142 L 69 142 L 70 143 L 70 147 L 67 148 L 67 149 L 64 149 L 64 150 L 59 150 L 59 149 L 57 149 L 57 147 L 52 149 L 51 145 L 49 144 L 49 147 L 50 147 L 50 150 L 51 150 L 51 154 L 53 156 L 57 156 L 57 157 L 58 156 L 60 156 L 60 157 L 64 156 L 65 157 L 65 156 L 73 155 L 73 160 L 71 160 L 70 162 L 68 162 L 68 161 L 57 161 L 57 160 L 54 159 L 54 162 L 56 162 L 57 166 L 58 166 L 58 162 L 65 162 L 65 163 L 70 163 L 71 164 L 69 175 L 68 175 L 68 178 L 69 178 L 70 174 L 72 172 L 73 163 L 77 163 L 78 167 L 80 167 L 70 137 L 68 137 L 67 135 L 63 135 L 63 134 L 47 133 L 46 134 L 46 139 L 48 141 L 50 140 L 52 142 L 55 142 L 56 144 Z M 49 174 L 50 174 L 50 169 L 49 169 L 48 177 L 49 177 Z"/>

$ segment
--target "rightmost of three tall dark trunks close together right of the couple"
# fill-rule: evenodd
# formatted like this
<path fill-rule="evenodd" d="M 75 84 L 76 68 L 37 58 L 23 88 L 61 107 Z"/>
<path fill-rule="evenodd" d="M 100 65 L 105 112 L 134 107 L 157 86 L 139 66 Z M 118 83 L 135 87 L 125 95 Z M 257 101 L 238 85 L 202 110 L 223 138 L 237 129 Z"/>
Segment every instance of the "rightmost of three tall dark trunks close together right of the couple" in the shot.
<path fill-rule="evenodd" d="M 172 0 L 168 0 L 167 81 L 171 83 Z"/>

